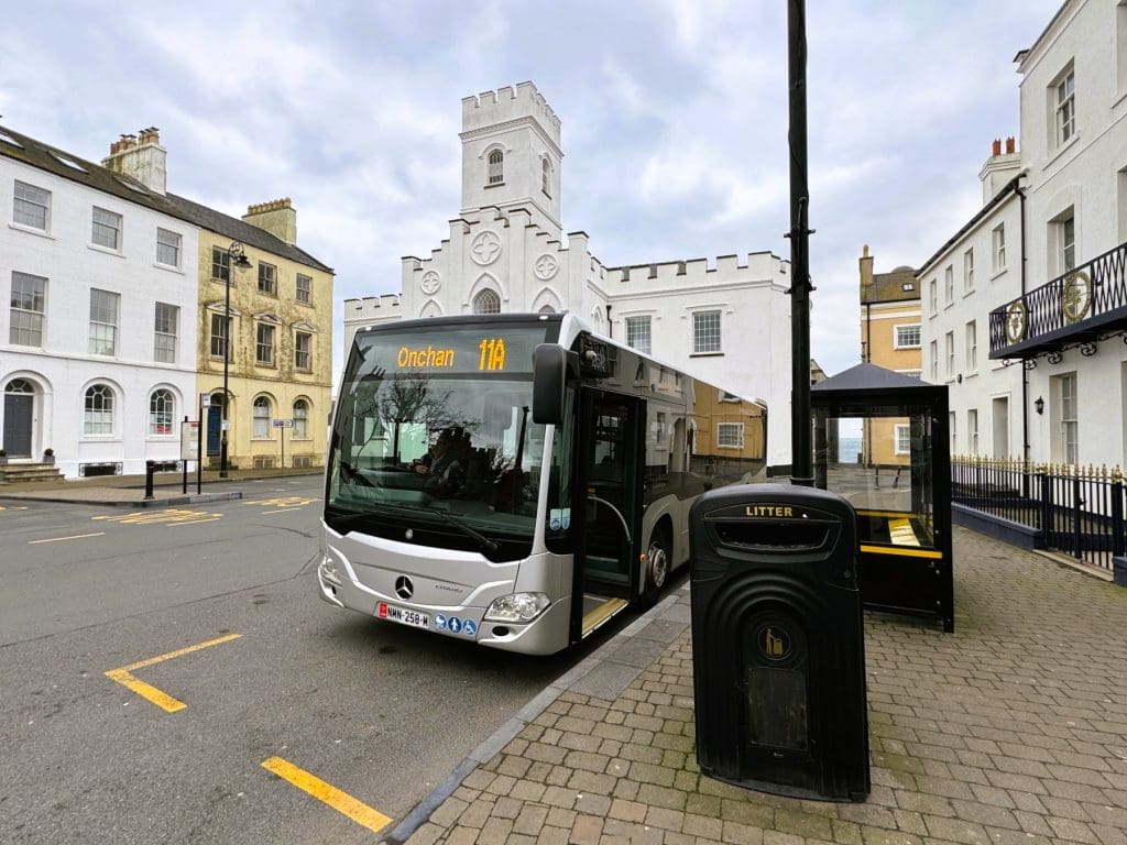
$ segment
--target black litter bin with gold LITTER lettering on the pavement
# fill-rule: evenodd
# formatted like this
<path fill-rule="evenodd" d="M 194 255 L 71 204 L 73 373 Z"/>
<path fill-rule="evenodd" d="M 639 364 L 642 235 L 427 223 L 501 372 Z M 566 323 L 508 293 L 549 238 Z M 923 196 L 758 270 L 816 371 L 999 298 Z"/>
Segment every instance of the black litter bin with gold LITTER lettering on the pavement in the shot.
<path fill-rule="evenodd" d="M 833 801 L 869 793 L 857 515 L 784 484 L 690 512 L 696 760 L 710 777 Z"/>

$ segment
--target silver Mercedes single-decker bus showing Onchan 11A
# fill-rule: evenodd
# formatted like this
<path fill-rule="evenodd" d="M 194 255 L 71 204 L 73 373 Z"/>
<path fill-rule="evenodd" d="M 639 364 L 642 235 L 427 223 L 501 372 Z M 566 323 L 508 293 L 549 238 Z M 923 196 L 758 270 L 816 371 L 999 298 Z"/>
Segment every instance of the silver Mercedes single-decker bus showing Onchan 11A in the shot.
<path fill-rule="evenodd" d="M 689 559 L 689 508 L 763 480 L 766 406 L 569 313 L 356 332 L 326 461 L 321 597 L 550 655 Z"/>

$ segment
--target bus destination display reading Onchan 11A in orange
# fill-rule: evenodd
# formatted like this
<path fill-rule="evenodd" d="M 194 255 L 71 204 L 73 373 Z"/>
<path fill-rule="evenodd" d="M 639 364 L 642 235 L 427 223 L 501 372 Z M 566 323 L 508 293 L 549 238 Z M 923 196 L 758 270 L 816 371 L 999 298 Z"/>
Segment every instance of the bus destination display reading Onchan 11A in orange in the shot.
<path fill-rule="evenodd" d="M 357 343 L 365 364 L 387 373 L 527 374 L 541 326 L 465 327 L 444 331 L 373 331 Z"/>

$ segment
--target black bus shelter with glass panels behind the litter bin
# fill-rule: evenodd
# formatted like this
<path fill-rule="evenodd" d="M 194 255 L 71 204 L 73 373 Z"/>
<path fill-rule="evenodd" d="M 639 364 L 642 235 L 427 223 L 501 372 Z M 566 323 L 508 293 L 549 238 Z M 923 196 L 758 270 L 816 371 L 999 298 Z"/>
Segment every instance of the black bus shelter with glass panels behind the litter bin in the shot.
<path fill-rule="evenodd" d="M 810 388 L 815 484 L 858 517 L 861 601 L 955 630 L 947 386 L 858 364 Z"/>

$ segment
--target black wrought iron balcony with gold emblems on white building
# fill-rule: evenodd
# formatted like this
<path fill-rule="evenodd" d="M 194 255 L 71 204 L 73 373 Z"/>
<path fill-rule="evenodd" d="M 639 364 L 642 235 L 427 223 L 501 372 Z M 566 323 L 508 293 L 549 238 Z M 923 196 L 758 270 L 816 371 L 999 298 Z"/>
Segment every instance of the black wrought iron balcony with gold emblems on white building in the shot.
<path fill-rule="evenodd" d="M 1036 358 L 1125 331 L 1127 243 L 1120 243 L 991 311 L 990 356 Z"/>

